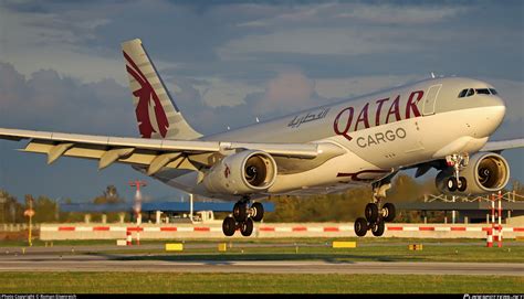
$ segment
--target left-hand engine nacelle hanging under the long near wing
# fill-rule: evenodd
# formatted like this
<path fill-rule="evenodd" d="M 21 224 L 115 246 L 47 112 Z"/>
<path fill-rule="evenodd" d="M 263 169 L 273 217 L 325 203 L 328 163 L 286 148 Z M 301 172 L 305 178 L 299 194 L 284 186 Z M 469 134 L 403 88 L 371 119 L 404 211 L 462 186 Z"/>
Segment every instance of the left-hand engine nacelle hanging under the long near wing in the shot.
<path fill-rule="evenodd" d="M 243 150 L 216 163 L 203 178 L 203 185 L 213 193 L 249 194 L 268 190 L 275 179 L 273 157 L 259 150 Z"/>

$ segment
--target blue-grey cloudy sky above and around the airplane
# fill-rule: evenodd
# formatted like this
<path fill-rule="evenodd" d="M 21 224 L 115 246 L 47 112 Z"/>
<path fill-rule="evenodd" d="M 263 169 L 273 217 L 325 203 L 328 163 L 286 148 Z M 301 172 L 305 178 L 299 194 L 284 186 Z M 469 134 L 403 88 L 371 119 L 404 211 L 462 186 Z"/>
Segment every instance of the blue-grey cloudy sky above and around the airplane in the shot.
<path fill-rule="evenodd" d="M 524 125 L 523 1 L 0 2 L 0 127 L 137 137 L 120 43 L 139 38 L 187 120 L 205 134 L 438 76 L 495 86 Z M 0 189 L 87 201 L 129 180 L 156 200 L 184 194 L 114 164 L 17 152 L 0 141 Z M 504 152 L 524 181 L 524 150 Z M 434 173 L 432 173 L 434 175 Z"/>

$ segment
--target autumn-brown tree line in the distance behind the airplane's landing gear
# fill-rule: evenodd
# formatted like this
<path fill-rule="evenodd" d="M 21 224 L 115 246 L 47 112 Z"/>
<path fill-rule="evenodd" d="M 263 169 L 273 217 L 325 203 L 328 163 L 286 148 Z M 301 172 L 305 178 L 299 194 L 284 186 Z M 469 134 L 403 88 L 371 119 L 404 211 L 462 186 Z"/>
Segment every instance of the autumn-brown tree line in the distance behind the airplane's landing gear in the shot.
<path fill-rule="evenodd" d="M 524 194 L 524 186 L 515 181 L 510 190 Z M 433 179 L 417 181 L 407 174 L 397 175 L 391 182 L 385 202 L 416 202 L 422 201 L 425 194 L 438 194 Z M 273 213 L 266 213 L 265 222 L 352 222 L 364 216 L 364 207 L 371 199 L 369 185 L 356 185 L 347 191 L 333 194 L 318 194 L 307 196 L 277 195 L 270 196 L 268 201 L 275 204 Z M 35 211 L 34 223 L 73 223 L 83 222 L 83 213 L 67 213 L 59 210 L 61 203 L 71 203 L 71 199 L 57 201 L 45 195 L 33 196 L 28 194 L 24 201 L 19 201 L 8 191 L 0 189 L 0 223 L 23 223 L 27 217 L 23 212 L 33 201 Z M 94 204 L 116 204 L 126 202 L 118 194 L 116 186 L 108 185 L 102 194 L 91 200 Z M 117 222 L 118 213 L 106 213 L 108 222 Z M 218 217 L 223 216 L 220 213 Z M 129 213 L 125 215 L 129 221 Z M 443 222 L 443 212 L 428 214 L 429 222 Z M 101 221 L 101 213 L 92 213 L 92 221 Z M 398 211 L 396 222 L 420 222 L 421 213 L 417 211 Z"/>

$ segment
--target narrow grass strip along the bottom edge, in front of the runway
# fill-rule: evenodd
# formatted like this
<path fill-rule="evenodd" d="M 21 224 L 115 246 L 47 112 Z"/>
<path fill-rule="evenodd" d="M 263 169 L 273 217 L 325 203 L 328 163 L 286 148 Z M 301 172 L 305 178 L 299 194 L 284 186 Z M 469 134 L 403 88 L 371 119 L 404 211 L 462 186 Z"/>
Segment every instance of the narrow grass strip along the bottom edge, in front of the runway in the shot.
<path fill-rule="evenodd" d="M 0 273 L 0 292 L 524 292 L 523 277 L 168 273 Z"/>

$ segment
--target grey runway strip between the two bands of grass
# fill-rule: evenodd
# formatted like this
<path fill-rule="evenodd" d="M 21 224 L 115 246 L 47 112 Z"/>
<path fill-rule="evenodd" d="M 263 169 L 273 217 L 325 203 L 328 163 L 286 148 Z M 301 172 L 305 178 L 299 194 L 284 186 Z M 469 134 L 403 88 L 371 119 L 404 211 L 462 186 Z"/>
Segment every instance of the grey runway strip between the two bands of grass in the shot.
<path fill-rule="evenodd" d="M 146 259 L 140 259 L 146 258 Z M 0 271 L 149 271 L 524 276 L 524 264 L 329 260 L 179 261 L 140 255 L 4 255 Z"/>

